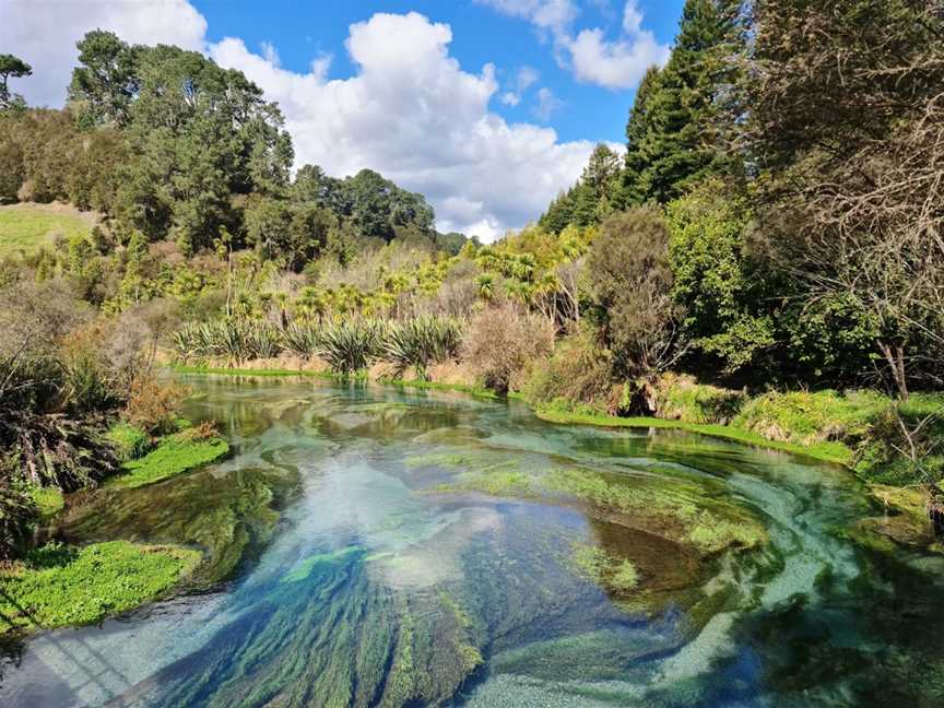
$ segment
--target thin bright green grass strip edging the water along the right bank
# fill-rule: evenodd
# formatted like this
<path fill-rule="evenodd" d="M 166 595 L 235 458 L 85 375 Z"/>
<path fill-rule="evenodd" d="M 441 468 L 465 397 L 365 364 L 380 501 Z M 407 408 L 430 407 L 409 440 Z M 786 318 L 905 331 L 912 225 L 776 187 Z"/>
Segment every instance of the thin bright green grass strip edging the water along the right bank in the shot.
<path fill-rule="evenodd" d="M 754 447 L 764 447 L 793 455 L 801 455 L 823 462 L 849 465 L 852 463 L 854 452 L 837 440 L 827 440 L 814 445 L 801 445 L 799 442 L 781 442 L 769 440 L 758 433 L 746 430 L 733 425 L 684 423 L 682 421 L 666 421 L 656 417 L 617 417 L 615 415 L 594 415 L 589 413 L 573 413 L 557 408 L 542 408 L 536 410 L 536 415 L 548 423 L 569 425 L 597 425 L 601 427 L 628 427 L 628 428 L 671 428 L 698 433 L 710 437 L 734 440 Z"/>

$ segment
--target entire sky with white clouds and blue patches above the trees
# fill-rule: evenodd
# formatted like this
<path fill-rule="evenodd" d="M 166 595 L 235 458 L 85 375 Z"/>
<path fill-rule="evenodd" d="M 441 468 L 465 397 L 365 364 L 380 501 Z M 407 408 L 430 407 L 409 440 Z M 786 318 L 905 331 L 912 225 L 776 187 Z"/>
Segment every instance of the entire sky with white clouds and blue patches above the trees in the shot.
<path fill-rule="evenodd" d="M 11 88 L 60 107 L 94 28 L 176 44 L 279 102 L 296 167 L 369 167 L 424 193 L 439 231 L 491 241 L 534 221 L 598 142 L 622 148 L 683 0 L 0 0 Z"/>

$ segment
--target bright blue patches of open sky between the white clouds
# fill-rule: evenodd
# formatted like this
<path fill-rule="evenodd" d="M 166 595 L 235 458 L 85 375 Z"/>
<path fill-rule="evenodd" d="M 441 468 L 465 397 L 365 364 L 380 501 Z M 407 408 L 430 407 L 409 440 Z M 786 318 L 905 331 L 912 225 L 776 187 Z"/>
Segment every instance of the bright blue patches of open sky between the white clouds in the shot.
<path fill-rule="evenodd" d="M 209 21 L 208 35 L 212 40 L 237 36 L 250 48 L 271 43 L 282 64 L 295 71 L 304 71 L 318 54 L 330 54 L 332 79 L 346 79 L 356 72 L 344 50 L 351 24 L 376 12 L 416 11 L 452 27 L 450 54 L 467 71 L 477 71 L 491 62 L 504 83 L 512 81 L 521 67 L 532 67 L 540 74 L 533 90 L 536 83 L 546 85 L 563 103 L 548 121 L 542 121 L 532 110 L 533 95 L 531 101 L 522 101 L 515 107 L 494 101 L 493 110 L 507 120 L 546 122 L 562 140 L 622 142 L 624 139 L 635 90 L 612 90 L 577 81 L 557 66 L 550 40 L 542 40 L 527 20 L 507 16 L 472 0 L 287 0 L 264 5 L 246 0 L 194 0 L 192 4 Z M 644 26 L 660 43 L 671 44 L 678 28 L 682 4 L 683 0 L 642 0 L 639 9 L 644 12 Z M 618 0 L 582 2 L 577 24 L 606 27 L 610 34 L 615 34 L 622 12 L 623 3 Z"/>

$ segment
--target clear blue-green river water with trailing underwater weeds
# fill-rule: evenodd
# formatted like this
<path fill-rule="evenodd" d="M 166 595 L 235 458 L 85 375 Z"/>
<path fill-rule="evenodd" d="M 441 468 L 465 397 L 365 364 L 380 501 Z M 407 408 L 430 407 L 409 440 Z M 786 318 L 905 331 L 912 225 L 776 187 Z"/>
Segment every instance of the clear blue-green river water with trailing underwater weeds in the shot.
<path fill-rule="evenodd" d="M 877 510 L 841 470 L 460 394 L 187 382 L 235 455 L 59 533 L 200 544 L 200 591 L 14 648 L 0 705 L 944 705 L 944 563 L 849 540 Z M 560 469 L 700 489 L 769 541 L 706 558 L 575 499 L 458 488 Z M 639 586 L 601 587 L 581 545 Z"/>

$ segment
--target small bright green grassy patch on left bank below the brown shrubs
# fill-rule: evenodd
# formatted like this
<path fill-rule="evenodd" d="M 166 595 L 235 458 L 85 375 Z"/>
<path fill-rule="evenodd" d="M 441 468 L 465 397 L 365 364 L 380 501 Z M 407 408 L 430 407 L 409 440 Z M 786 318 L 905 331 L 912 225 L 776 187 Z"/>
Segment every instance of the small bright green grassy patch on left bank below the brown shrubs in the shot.
<path fill-rule="evenodd" d="M 196 438 L 190 429 L 164 438 L 156 448 L 138 460 L 122 465 L 123 474 L 111 477 L 106 486 L 133 489 L 163 482 L 172 476 L 219 460 L 229 451 L 219 437 Z"/>

